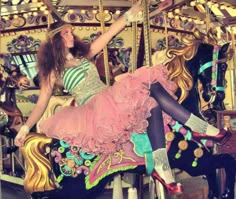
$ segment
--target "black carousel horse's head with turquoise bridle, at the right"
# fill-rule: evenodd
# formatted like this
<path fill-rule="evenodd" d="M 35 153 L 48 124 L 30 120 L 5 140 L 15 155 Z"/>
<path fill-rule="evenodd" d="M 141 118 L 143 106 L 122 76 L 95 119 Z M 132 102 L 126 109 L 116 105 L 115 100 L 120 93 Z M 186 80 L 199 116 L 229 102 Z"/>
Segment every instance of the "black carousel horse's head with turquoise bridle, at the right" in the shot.
<path fill-rule="evenodd" d="M 202 43 L 194 58 L 198 67 L 198 78 L 202 83 L 202 97 L 213 110 L 224 110 L 225 72 L 227 69 L 229 44 L 223 46 Z"/>

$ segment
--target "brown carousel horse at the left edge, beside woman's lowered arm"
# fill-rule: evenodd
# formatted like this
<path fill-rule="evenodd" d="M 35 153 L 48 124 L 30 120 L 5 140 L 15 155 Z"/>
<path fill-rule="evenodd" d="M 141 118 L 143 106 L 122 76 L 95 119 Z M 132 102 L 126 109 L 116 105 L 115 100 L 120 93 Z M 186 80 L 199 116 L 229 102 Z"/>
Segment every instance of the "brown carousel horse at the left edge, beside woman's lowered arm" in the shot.
<path fill-rule="evenodd" d="M 0 95 L 4 96 L 3 102 L 0 102 L 0 134 L 14 139 L 23 124 L 22 113 L 16 105 L 15 90 L 16 88 L 26 88 L 29 80 L 17 66 L 1 65 L 0 77 Z M 16 146 L 11 146 L 4 148 L 3 152 L 11 153 L 16 150 Z"/>

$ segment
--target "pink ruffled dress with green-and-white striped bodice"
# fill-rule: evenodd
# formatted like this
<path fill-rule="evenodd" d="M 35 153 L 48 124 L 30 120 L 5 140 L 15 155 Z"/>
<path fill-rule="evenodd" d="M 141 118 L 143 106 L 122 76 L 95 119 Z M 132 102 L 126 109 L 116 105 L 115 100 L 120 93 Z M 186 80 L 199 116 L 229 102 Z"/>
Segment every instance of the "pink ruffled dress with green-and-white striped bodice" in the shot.
<path fill-rule="evenodd" d="M 167 79 L 163 65 L 142 67 L 110 87 L 100 81 L 93 63 L 86 60 L 73 68 L 80 70 L 80 77 L 76 77 L 80 81 L 73 81 L 66 89 L 79 105 L 61 108 L 41 122 L 40 128 L 48 137 L 64 140 L 87 153 L 113 153 L 122 148 L 131 133 L 146 132 L 150 111 L 158 105 L 149 96 L 151 83 L 160 82 L 176 98 L 177 86 Z M 66 75 L 67 71 L 63 74 L 64 85 L 73 79 L 73 75 Z M 165 124 L 171 120 L 167 114 L 163 116 Z"/>

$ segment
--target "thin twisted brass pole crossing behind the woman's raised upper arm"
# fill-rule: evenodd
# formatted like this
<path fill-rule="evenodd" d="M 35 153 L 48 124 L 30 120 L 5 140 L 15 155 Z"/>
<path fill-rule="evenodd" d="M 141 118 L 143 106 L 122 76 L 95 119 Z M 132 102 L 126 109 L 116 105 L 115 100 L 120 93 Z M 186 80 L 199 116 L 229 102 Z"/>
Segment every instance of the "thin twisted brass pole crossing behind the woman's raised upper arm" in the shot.
<path fill-rule="evenodd" d="M 100 14 L 100 24 L 101 24 L 101 29 L 102 33 L 105 32 L 105 14 L 103 11 L 103 0 L 99 0 L 99 14 Z M 110 68 L 108 64 L 108 50 L 107 46 L 103 48 L 103 57 L 104 57 L 104 67 L 105 67 L 105 76 L 106 76 L 106 84 L 110 86 Z"/>

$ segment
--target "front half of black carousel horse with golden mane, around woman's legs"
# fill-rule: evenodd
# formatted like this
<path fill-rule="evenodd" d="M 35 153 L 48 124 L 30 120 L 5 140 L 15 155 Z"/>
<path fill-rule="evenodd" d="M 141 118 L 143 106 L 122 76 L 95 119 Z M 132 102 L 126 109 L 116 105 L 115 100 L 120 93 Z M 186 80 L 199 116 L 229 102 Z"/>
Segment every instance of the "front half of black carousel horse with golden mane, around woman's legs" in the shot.
<path fill-rule="evenodd" d="M 198 117 L 205 119 L 208 122 L 210 121 L 211 124 L 216 125 L 216 111 L 225 109 L 223 101 L 225 98 L 224 87 L 225 72 L 227 69 L 226 61 L 232 58 L 233 52 L 232 49 L 228 50 L 229 44 L 222 46 L 221 49 L 215 45 L 217 39 L 214 37 L 212 30 L 210 30 L 207 35 L 202 34 L 198 30 L 195 30 L 193 33 L 194 37 L 200 40 L 200 45 L 198 40 L 188 40 L 183 38 L 183 48 L 169 48 L 167 51 L 168 57 L 173 58 L 176 56 L 177 59 L 176 61 L 172 61 L 172 65 L 169 64 L 167 67 L 170 70 L 170 74 L 172 74 L 170 78 L 173 80 L 176 79 L 176 81 L 179 81 L 179 73 L 182 73 L 184 72 L 183 70 L 187 69 L 188 73 L 186 73 L 185 78 L 189 81 L 188 75 L 191 76 L 192 86 L 188 89 L 185 84 L 182 84 L 183 86 L 185 85 L 185 89 L 182 89 L 182 96 L 187 95 L 188 97 L 184 97 L 184 100 L 181 100 L 181 104 Z M 209 41 L 213 44 L 209 45 Z M 164 55 L 161 52 L 155 53 L 158 56 L 155 54 L 153 55 L 154 65 L 160 62 L 164 63 L 165 60 L 163 60 L 163 58 L 165 59 L 166 53 L 165 51 L 162 52 L 164 52 Z M 184 56 L 183 60 L 180 55 Z M 141 66 L 142 63 L 139 65 Z M 179 65 L 185 65 L 185 68 L 178 69 Z M 198 81 L 200 81 L 203 85 L 202 93 L 199 92 Z M 180 89 L 177 91 L 177 96 L 180 96 L 181 98 Z M 205 110 L 204 113 L 201 110 L 200 96 L 208 102 L 207 105 L 209 109 Z M 206 113 L 208 114 L 207 117 L 205 117 Z M 173 142 L 171 143 L 171 148 L 168 151 L 171 167 L 184 170 L 192 176 L 205 175 L 208 180 L 208 197 L 210 199 L 214 197 L 217 198 L 219 195 L 216 180 L 216 169 L 224 168 L 227 173 L 227 178 L 225 182 L 226 187 L 224 193 L 222 194 L 222 198 L 234 198 L 235 179 L 230 177 L 235 176 L 236 172 L 234 158 L 229 154 L 212 155 L 212 153 L 208 151 L 207 147 L 206 150 L 203 150 L 201 147 L 197 147 L 195 141 L 191 141 L 191 135 L 189 134 L 190 131 L 187 128 L 183 127 L 176 121 L 173 121 L 170 125 L 172 126 L 170 127 L 171 130 L 182 132 L 183 134 L 176 134 L 176 138 L 173 138 L 173 135 L 171 136 Z M 180 137 L 182 137 L 182 140 Z M 185 139 L 188 139 L 189 141 L 185 142 Z M 212 145 L 209 141 L 204 140 L 203 142 L 209 146 Z M 180 149 L 181 145 L 184 150 Z M 187 150 L 186 146 L 189 146 Z M 184 153 L 182 153 L 182 151 L 184 151 Z M 199 155 L 202 156 L 200 164 L 198 163 L 199 158 L 197 157 Z M 182 157 L 185 161 L 181 161 L 182 158 L 180 157 Z M 212 160 L 211 166 L 208 164 L 208 157 Z M 189 163 L 191 159 L 192 166 L 186 166 L 186 162 Z"/>

